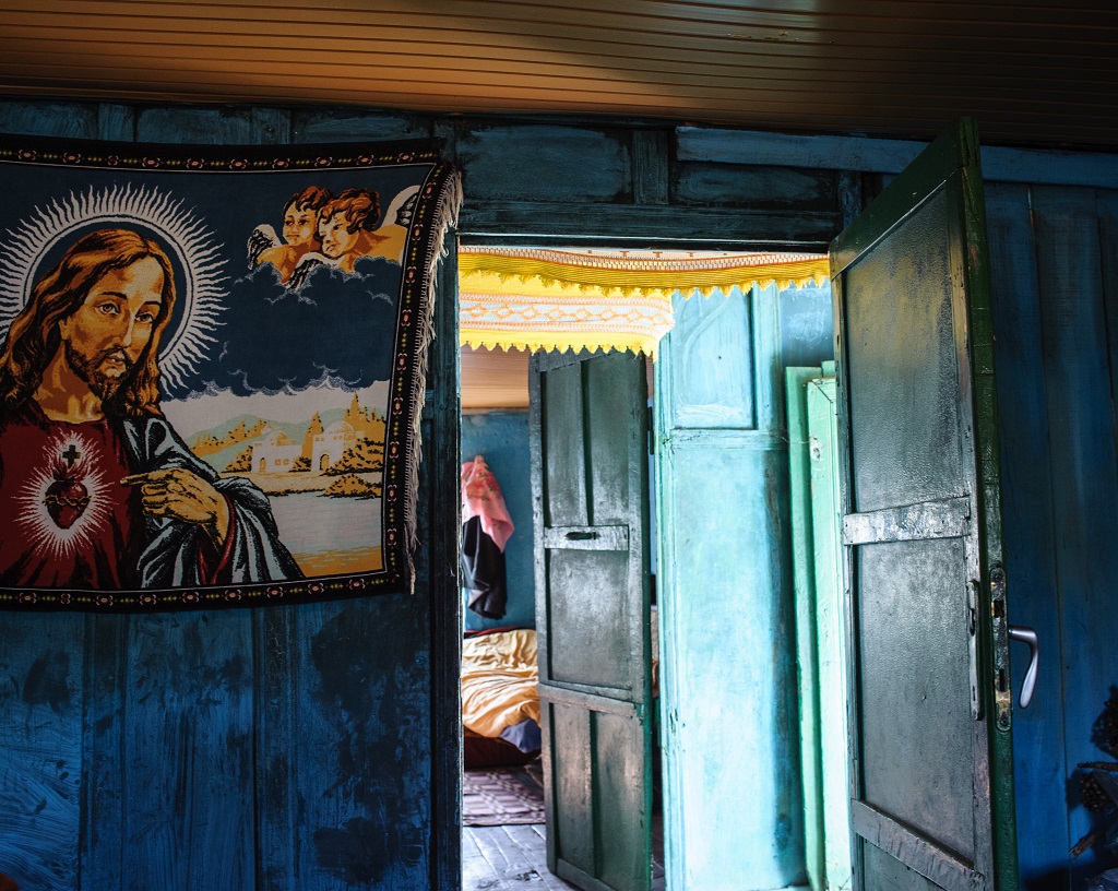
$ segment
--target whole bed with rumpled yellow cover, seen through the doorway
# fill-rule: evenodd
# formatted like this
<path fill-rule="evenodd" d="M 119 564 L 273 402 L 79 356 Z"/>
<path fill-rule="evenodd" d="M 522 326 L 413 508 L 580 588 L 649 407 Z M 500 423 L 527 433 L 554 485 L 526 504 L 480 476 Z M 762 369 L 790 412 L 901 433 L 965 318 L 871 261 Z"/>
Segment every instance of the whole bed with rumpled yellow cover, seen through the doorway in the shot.
<path fill-rule="evenodd" d="M 499 628 L 462 642 L 463 759 L 467 768 L 522 765 L 540 751 L 536 632 Z"/>

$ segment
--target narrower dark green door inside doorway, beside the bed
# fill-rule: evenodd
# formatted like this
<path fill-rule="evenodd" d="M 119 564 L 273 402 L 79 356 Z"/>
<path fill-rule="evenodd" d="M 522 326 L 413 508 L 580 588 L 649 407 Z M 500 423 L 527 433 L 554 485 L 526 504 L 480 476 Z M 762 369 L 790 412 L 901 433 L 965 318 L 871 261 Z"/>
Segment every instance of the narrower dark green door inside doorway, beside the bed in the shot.
<path fill-rule="evenodd" d="M 648 410 L 642 357 L 549 354 L 530 379 L 548 866 L 652 880 Z"/>

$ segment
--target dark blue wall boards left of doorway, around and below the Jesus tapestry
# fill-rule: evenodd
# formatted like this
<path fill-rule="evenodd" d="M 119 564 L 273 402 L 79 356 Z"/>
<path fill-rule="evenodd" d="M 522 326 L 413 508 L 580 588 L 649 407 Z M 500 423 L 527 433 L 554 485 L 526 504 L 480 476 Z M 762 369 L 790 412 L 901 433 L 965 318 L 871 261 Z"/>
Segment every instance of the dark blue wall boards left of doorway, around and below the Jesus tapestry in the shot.
<path fill-rule="evenodd" d="M 267 110 L 115 105 L 0 105 L 0 129 L 155 142 L 291 135 L 290 115 Z M 436 325 L 436 349 L 453 344 L 453 301 Z M 445 369 L 428 395 L 442 420 L 424 430 L 419 535 L 453 551 L 456 480 L 432 470 L 457 461 L 456 362 L 436 352 L 433 363 Z M 443 842 L 433 814 L 456 802 L 432 781 L 443 679 L 430 604 L 453 603 L 456 587 L 432 581 L 427 552 L 417 558 L 415 596 L 6 614 L 0 871 L 37 891 L 447 887 L 436 875 L 455 863 L 456 842 Z"/>

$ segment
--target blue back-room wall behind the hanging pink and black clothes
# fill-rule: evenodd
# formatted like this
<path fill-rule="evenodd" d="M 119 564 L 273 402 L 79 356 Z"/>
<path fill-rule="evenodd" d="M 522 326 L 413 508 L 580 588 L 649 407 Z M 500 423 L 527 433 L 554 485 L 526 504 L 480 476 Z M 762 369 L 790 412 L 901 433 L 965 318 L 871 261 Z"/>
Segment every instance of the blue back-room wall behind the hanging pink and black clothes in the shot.
<path fill-rule="evenodd" d="M 466 628 L 502 625 L 536 627 L 536 565 L 532 546 L 531 454 L 527 411 L 477 411 L 462 416 L 462 459 L 482 455 L 496 476 L 517 531 L 504 549 L 509 603 L 504 618 L 487 619 L 468 609 Z"/>

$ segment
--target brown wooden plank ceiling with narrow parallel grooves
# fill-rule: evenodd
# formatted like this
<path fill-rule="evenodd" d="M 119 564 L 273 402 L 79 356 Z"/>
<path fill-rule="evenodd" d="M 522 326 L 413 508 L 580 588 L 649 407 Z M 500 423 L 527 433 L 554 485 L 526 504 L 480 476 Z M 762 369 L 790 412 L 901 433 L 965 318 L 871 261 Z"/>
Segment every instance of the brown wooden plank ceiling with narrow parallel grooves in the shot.
<path fill-rule="evenodd" d="M 1112 0 L 0 0 L 0 95 L 1118 145 Z"/>

